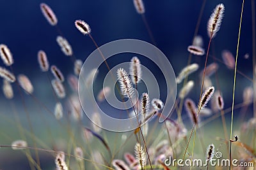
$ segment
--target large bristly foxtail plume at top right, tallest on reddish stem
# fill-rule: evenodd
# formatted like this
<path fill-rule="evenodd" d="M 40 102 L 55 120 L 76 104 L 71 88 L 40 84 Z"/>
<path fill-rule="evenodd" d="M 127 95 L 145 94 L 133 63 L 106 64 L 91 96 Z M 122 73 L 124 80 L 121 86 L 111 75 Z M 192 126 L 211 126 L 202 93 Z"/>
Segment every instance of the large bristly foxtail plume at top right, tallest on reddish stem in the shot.
<path fill-rule="evenodd" d="M 220 30 L 221 20 L 224 15 L 224 4 L 218 4 L 208 21 L 207 31 L 210 38 L 214 38 L 216 32 Z"/>

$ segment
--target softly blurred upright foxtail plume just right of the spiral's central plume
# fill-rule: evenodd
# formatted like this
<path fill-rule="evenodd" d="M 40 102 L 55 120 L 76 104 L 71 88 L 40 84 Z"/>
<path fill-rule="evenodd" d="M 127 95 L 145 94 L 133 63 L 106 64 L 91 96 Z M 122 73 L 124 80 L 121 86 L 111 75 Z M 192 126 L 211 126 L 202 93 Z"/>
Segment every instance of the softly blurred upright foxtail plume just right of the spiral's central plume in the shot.
<path fill-rule="evenodd" d="M 138 57 L 132 57 L 131 59 L 130 74 L 132 76 L 132 83 L 134 85 L 138 84 L 141 78 L 141 66 Z"/>

